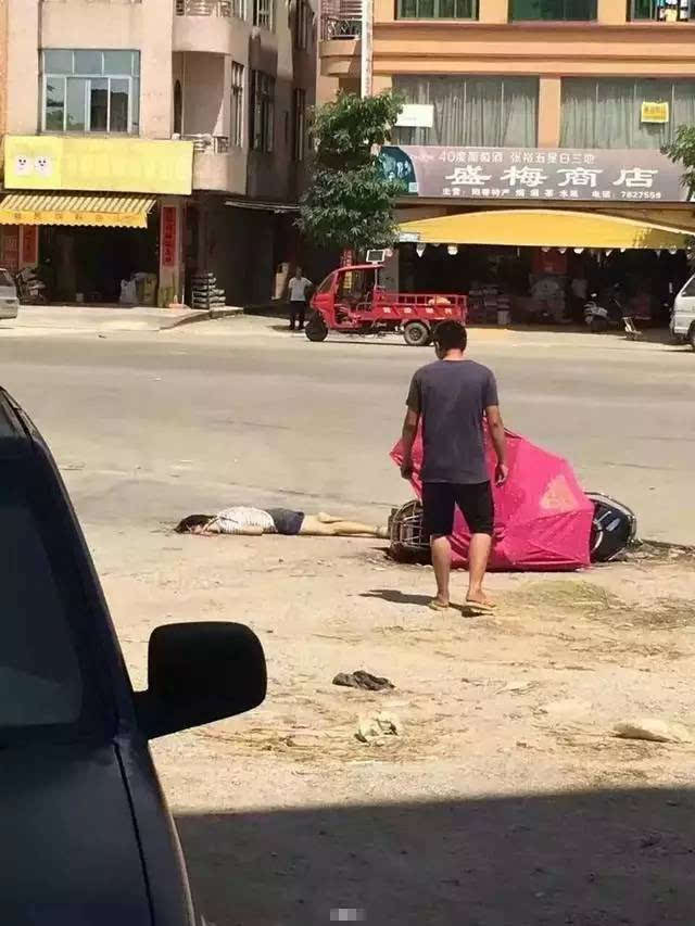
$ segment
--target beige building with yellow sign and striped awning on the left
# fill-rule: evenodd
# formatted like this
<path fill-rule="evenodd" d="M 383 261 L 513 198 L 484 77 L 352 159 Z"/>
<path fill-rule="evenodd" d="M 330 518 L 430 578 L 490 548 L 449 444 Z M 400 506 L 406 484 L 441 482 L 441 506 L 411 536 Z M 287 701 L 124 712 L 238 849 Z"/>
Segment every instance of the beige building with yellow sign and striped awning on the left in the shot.
<path fill-rule="evenodd" d="M 55 301 L 273 296 L 315 86 L 306 0 L 5 0 L 3 240 Z M 0 104 L 1 104 L 0 98 Z M 11 268 L 15 269 L 15 268 Z"/>

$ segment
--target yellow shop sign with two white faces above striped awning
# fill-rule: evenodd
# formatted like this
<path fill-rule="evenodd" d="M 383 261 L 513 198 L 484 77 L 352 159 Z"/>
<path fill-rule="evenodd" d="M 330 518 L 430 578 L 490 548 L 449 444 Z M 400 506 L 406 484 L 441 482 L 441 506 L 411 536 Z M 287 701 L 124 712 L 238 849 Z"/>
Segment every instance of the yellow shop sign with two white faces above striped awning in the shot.
<path fill-rule="evenodd" d="M 5 136 L 4 186 L 9 190 L 99 190 L 189 195 L 190 141 L 138 138 Z"/>

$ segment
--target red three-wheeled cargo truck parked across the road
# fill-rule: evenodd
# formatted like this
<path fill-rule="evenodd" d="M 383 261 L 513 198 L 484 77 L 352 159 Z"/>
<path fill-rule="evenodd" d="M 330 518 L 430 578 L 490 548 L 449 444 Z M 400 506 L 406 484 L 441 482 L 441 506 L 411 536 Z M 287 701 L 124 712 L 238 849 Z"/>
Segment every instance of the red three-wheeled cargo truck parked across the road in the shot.
<path fill-rule="evenodd" d="M 312 299 L 306 325 L 309 341 L 325 341 L 329 331 L 379 334 L 401 331 L 405 343 L 424 347 L 439 321 L 465 321 L 465 295 L 387 292 L 379 286 L 382 264 L 357 264 L 329 274 Z"/>

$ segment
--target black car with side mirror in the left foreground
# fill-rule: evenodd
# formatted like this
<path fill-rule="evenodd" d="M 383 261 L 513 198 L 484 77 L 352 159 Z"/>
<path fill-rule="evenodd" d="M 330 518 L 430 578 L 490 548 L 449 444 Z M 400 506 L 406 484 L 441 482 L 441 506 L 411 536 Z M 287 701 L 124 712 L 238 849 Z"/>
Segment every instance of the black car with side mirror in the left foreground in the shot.
<path fill-rule="evenodd" d="M 191 926 L 148 740 L 241 713 L 266 690 L 241 624 L 157 627 L 134 693 L 51 454 L 0 390 L 0 918 Z"/>

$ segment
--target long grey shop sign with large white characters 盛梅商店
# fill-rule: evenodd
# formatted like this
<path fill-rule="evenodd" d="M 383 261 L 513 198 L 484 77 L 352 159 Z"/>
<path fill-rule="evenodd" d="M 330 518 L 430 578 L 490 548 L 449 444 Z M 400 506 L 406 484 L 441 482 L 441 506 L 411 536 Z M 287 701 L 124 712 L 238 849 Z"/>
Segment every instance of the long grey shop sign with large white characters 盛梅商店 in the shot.
<path fill-rule="evenodd" d="M 682 167 L 657 150 L 384 145 L 404 195 L 506 202 L 686 202 Z"/>

